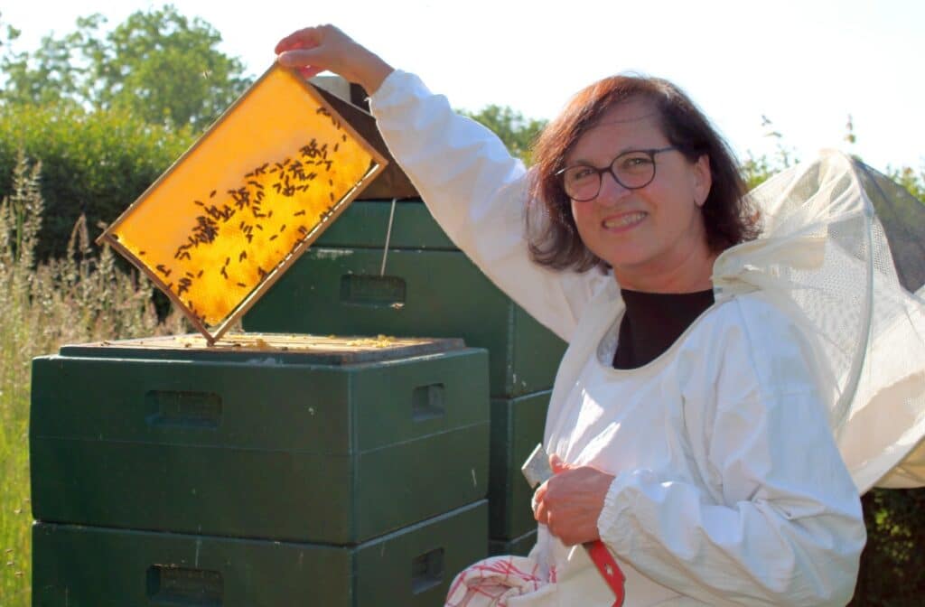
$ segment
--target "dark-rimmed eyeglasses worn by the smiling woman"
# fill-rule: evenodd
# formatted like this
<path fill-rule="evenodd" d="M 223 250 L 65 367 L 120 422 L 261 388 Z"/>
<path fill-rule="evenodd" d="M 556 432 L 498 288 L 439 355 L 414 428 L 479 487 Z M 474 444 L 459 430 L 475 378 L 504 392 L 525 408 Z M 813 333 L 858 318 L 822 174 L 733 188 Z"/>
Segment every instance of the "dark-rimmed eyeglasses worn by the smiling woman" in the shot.
<path fill-rule="evenodd" d="M 655 155 L 675 149 L 670 145 L 655 150 L 630 150 L 614 158 L 608 167 L 574 165 L 557 171 L 556 175 L 561 176 L 562 188 L 569 198 L 585 203 L 598 197 L 604 173 L 610 173 L 627 190 L 645 188 L 655 179 Z"/>

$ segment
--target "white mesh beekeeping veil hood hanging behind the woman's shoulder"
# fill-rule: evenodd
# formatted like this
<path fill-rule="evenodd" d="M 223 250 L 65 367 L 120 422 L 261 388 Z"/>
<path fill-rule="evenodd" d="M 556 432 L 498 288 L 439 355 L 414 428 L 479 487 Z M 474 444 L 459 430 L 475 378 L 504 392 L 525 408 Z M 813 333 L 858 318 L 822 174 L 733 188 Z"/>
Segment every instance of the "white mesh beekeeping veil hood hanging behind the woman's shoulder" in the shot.
<path fill-rule="evenodd" d="M 837 152 L 749 196 L 763 235 L 717 259 L 717 301 L 764 291 L 801 321 L 861 493 L 925 485 L 925 205 Z"/>

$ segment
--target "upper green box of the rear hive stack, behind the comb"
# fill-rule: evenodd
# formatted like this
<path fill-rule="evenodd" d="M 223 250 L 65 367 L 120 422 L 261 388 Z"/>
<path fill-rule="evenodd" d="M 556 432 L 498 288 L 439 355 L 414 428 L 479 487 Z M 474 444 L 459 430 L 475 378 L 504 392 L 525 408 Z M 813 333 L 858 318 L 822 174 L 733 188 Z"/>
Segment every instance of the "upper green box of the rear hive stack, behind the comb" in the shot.
<path fill-rule="evenodd" d="M 244 317 L 254 331 L 462 337 L 494 397 L 552 386 L 565 344 L 458 251 L 419 201 L 351 204 Z"/>

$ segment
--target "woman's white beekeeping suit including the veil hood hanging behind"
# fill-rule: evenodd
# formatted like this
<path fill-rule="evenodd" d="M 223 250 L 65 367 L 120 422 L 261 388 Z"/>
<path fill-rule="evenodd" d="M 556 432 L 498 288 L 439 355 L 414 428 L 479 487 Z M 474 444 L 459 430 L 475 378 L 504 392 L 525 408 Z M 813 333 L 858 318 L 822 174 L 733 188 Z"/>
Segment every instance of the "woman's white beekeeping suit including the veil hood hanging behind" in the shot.
<path fill-rule="evenodd" d="M 523 164 L 411 74 L 393 72 L 370 102 L 453 242 L 569 342 L 544 442 L 615 475 L 598 529 L 626 574 L 626 607 L 848 601 L 864 543 L 858 491 L 925 481 L 914 452 L 925 307 L 897 277 L 864 188 L 887 184 L 837 153 L 766 182 L 750 194 L 762 237 L 718 257 L 714 305 L 656 361 L 614 370 L 619 287 L 530 260 Z M 894 207 L 881 198 L 878 211 Z M 920 205 L 904 209 L 925 227 Z M 918 291 L 925 268 L 901 275 Z M 530 558 L 467 570 L 448 604 L 610 607 L 580 547 L 544 526 L 537 538 Z"/>

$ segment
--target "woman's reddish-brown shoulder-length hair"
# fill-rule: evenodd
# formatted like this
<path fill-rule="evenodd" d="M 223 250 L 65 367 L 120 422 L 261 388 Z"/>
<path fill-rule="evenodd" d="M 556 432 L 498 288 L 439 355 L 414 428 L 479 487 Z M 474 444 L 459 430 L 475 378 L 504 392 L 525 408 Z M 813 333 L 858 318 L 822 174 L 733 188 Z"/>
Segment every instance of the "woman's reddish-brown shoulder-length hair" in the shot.
<path fill-rule="evenodd" d="M 569 197 L 556 172 L 564 167 L 565 155 L 575 142 L 607 110 L 635 97 L 655 106 L 665 137 L 688 161 L 695 162 L 702 155 L 709 157 L 712 186 L 701 209 L 709 250 L 720 253 L 758 236 L 758 216 L 746 201 L 745 183 L 734 155 L 697 106 L 669 81 L 619 75 L 595 82 L 577 93 L 536 140 L 531 193 L 542 205 L 543 214 L 536 217 L 536 213 L 530 212 L 526 216 L 528 246 L 536 263 L 577 271 L 609 267 L 579 237 Z M 537 219 L 542 220 L 537 222 Z"/>

